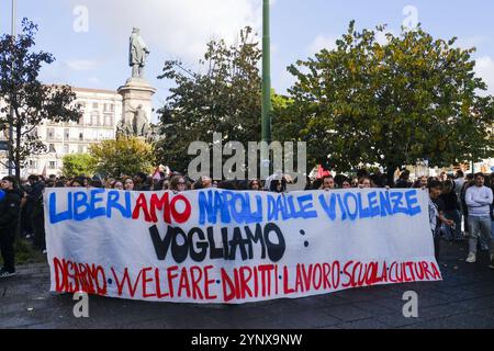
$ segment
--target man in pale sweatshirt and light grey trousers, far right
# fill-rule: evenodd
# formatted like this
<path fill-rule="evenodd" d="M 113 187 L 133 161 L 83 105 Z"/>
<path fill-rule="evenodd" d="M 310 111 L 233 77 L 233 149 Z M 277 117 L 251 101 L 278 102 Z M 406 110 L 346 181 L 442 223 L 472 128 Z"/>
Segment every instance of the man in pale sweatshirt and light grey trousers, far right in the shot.
<path fill-rule="evenodd" d="M 476 261 L 476 244 L 479 236 L 485 238 L 491 251 L 491 265 L 494 269 L 494 247 L 491 236 L 491 207 L 493 202 L 492 189 L 484 186 L 484 174 L 475 174 L 475 185 L 470 186 L 465 193 L 465 203 L 469 208 L 469 257 L 468 263 Z"/>

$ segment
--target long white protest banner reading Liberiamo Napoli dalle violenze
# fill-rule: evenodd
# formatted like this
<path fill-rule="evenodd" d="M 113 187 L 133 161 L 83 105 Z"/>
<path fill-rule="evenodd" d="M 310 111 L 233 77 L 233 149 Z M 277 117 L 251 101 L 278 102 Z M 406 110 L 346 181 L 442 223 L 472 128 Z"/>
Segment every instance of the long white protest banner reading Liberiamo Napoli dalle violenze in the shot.
<path fill-rule="evenodd" d="M 243 304 L 439 281 L 423 190 L 50 189 L 52 291 Z"/>

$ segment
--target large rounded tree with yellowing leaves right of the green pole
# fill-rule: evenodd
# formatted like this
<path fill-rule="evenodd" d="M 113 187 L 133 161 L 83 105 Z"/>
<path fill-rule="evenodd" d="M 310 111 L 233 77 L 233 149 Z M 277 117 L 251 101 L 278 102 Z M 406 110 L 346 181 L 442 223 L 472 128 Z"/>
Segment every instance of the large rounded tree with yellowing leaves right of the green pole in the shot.
<path fill-rule="evenodd" d="M 290 66 L 293 104 L 276 125 L 291 124 L 308 159 L 338 171 L 370 163 L 391 174 L 418 159 L 449 166 L 492 152 L 493 99 L 478 94 L 486 86 L 474 73 L 474 48 L 420 26 L 380 44 L 384 31 L 358 32 L 351 22 L 336 49 Z"/>

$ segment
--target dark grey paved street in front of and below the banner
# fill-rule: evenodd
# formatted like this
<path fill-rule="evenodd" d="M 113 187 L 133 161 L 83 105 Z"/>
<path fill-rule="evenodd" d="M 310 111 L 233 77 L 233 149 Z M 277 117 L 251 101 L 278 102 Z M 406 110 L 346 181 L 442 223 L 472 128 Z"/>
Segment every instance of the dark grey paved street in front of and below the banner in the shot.
<path fill-rule="evenodd" d="M 90 297 L 89 318 L 71 295 L 48 292 L 45 264 L 0 282 L 0 328 L 493 328 L 494 271 L 487 253 L 464 263 L 465 244 L 442 245 L 444 282 L 350 290 L 242 306 L 194 306 Z M 418 318 L 402 315 L 403 293 L 418 293 Z"/>

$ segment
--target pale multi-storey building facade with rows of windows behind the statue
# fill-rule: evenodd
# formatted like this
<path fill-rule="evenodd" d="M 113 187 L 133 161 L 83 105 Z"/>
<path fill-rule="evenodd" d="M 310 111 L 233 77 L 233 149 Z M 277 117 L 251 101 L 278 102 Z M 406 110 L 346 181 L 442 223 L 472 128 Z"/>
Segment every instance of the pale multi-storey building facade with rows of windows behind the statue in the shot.
<path fill-rule="evenodd" d="M 61 123 L 44 121 L 37 126 L 33 133 L 46 145 L 47 154 L 30 157 L 22 178 L 61 174 L 64 156 L 88 152 L 91 145 L 115 138 L 116 126 L 122 120 L 122 95 L 111 90 L 72 88 L 72 91 L 76 103 L 81 105 L 81 118 Z M 8 168 L 1 166 L 0 173 L 7 174 Z"/>

